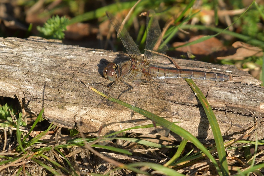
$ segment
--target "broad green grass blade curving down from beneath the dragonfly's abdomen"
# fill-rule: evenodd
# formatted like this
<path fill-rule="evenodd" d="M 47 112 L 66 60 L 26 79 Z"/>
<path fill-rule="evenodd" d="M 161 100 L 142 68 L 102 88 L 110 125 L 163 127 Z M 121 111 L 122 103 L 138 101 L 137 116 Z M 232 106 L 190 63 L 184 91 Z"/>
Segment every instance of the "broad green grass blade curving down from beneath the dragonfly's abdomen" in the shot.
<path fill-rule="evenodd" d="M 215 145 L 216 145 L 216 149 L 218 151 L 218 157 L 219 157 L 219 161 L 221 164 L 221 170 L 223 172 L 223 175 L 228 175 L 228 164 L 227 164 L 227 159 L 226 159 L 226 154 L 225 154 L 224 140 L 223 140 L 218 122 L 217 122 L 216 117 L 214 115 L 214 112 L 213 112 L 210 104 L 206 100 L 204 94 L 197 87 L 197 85 L 194 83 L 194 81 L 192 79 L 185 79 L 185 80 L 190 85 L 192 91 L 194 91 L 195 95 L 197 96 L 197 98 L 201 102 L 202 107 L 204 108 L 205 114 L 208 118 L 211 129 L 213 131 Z"/>

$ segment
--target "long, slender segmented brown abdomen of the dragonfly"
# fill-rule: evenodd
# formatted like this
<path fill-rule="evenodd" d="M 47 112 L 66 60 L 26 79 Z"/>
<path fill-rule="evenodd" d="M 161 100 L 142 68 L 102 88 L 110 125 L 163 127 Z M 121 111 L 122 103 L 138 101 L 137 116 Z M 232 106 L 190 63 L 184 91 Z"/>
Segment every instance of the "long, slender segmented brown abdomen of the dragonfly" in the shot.
<path fill-rule="evenodd" d="M 202 79 L 202 80 L 213 80 L 213 81 L 228 81 L 230 76 L 216 73 L 206 72 L 194 72 L 184 70 L 170 70 L 151 66 L 149 67 L 149 73 L 154 77 L 165 79 L 165 78 L 190 78 L 190 79 Z"/>

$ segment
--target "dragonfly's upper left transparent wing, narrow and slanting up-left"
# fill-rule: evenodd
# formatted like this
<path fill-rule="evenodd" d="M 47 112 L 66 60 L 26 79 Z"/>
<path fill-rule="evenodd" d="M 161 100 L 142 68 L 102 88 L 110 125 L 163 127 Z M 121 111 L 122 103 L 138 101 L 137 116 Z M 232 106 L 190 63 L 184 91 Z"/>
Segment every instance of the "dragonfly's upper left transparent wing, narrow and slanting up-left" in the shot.
<path fill-rule="evenodd" d="M 105 13 L 106 13 L 106 16 L 109 18 L 110 22 L 112 23 L 112 25 L 114 26 L 129 56 L 136 60 L 140 59 L 141 53 L 136 43 L 134 42 L 132 37 L 129 35 L 126 28 L 124 26 L 120 28 L 121 27 L 120 22 L 110 12 L 105 12 Z"/>

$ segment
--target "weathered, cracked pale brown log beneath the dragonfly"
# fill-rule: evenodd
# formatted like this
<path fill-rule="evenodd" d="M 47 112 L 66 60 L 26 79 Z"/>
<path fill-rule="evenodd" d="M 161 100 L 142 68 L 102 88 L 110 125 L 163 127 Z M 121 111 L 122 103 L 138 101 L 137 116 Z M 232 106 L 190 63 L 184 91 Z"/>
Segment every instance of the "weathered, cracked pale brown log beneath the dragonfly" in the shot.
<path fill-rule="evenodd" d="M 128 60 L 123 53 L 83 48 L 54 43 L 40 37 L 28 39 L 1 38 L 1 94 L 0 96 L 21 98 L 25 107 L 39 113 L 45 107 L 44 118 L 62 127 L 78 128 L 83 132 L 98 131 L 102 117 L 84 117 L 82 126 L 77 127 L 78 114 L 84 114 L 96 107 L 102 100 L 83 85 L 110 81 L 102 77 L 102 69 L 108 62 Z M 232 81 L 214 82 L 194 80 L 212 106 L 225 139 L 234 138 L 251 127 L 257 117 L 258 139 L 263 138 L 264 93 L 260 82 L 247 72 L 233 65 L 216 65 L 200 61 L 176 59 L 182 69 L 228 74 Z M 161 57 L 153 63 L 163 68 L 174 68 L 167 58 Z M 106 91 L 101 85 L 92 85 Z M 184 79 L 165 79 L 164 88 L 171 102 L 173 121 L 200 139 L 213 139 L 208 120 L 191 88 Z M 81 108 L 80 108 L 81 104 Z M 93 110 L 96 111 L 94 108 Z M 99 110 L 97 110 L 99 111 Z M 106 110 L 100 110 L 106 111 Z M 107 113 L 107 112 L 105 112 Z M 138 117 L 145 118 L 145 117 Z M 149 124 L 146 121 L 143 124 Z M 142 123 L 141 123 L 142 124 Z M 126 127 L 135 126 L 129 122 Z M 137 129 L 133 132 L 149 133 L 153 129 Z M 172 138 L 177 139 L 173 135 Z M 254 135 L 252 135 L 254 138 Z"/>

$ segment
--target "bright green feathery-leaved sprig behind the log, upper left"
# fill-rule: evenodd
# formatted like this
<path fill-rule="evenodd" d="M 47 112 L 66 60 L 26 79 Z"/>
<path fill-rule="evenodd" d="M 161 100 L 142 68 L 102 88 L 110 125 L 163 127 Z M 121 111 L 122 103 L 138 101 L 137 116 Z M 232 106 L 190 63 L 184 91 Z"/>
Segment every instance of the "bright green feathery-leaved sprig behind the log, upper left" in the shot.
<path fill-rule="evenodd" d="M 70 20 L 68 18 L 59 17 L 58 15 L 52 16 L 48 19 L 43 27 L 37 26 L 37 30 L 45 37 L 49 39 L 64 39 L 64 31 L 66 26 L 69 25 Z"/>

